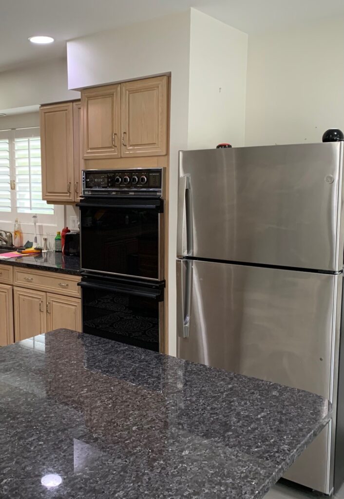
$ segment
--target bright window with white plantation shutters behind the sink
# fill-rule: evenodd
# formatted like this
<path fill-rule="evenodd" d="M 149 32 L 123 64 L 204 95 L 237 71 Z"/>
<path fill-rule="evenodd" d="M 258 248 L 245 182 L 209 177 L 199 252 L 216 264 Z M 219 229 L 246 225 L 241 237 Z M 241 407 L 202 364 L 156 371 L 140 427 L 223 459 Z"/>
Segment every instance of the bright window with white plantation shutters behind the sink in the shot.
<path fill-rule="evenodd" d="M 42 200 L 39 128 L 0 130 L 0 221 L 55 225 L 53 205 Z"/>

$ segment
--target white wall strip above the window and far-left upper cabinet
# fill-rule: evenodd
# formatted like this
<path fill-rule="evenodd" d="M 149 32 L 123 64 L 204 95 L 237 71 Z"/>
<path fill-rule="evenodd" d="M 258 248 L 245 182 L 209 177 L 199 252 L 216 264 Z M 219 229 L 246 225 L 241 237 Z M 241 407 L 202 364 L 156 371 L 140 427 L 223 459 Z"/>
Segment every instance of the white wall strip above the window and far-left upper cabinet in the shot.
<path fill-rule="evenodd" d="M 0 73 L 0 110 L 79 97 L 79 92 L 68 90 L 65 59 Z"/>

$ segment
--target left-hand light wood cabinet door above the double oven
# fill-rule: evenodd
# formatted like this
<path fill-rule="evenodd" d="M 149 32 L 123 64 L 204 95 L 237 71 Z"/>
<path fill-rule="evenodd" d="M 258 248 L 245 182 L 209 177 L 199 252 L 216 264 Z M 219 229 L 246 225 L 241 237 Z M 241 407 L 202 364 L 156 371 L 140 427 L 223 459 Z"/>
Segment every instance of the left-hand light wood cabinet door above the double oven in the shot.
<path fill-rule="evenodd" d="M 120 85 L 81 90 L 84 158 L 119 158 Z"/>

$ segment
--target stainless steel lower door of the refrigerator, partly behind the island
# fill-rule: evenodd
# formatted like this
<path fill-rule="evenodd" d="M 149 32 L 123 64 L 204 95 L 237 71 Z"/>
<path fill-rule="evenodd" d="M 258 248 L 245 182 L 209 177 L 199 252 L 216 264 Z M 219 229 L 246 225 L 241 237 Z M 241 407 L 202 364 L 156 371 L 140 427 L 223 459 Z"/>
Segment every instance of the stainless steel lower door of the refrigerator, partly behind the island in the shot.
<path fill-rule="evenodd" d="M 178 356 L 336 407 L 342 274 L 177 260 Z M 329 494 L 335 419 L 285 478 Z"/>

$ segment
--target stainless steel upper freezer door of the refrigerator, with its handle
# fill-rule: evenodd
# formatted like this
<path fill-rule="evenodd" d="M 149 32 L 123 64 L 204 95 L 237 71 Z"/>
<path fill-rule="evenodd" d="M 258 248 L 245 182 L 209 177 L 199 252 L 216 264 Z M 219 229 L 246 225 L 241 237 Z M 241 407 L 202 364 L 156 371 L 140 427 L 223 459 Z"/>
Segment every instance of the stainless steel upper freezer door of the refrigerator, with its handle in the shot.
<path fill-rule="evenodd" d="M 178 257 L 341 270 L 342 163 L 343 142 L 182 151 Z"/>

